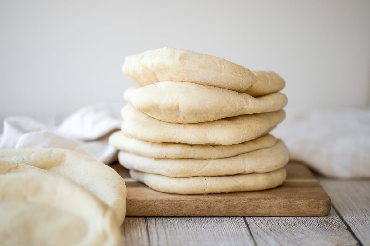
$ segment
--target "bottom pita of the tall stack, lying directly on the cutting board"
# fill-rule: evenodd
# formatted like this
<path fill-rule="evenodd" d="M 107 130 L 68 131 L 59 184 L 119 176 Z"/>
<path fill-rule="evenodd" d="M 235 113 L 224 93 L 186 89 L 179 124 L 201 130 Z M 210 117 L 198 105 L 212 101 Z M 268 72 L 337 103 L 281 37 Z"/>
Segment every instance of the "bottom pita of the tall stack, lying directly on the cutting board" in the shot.
<path fill-rule="evenodd" d="M 185 195 L 275 188 L 286 179 L 286 170 L 283 167 L 268 173 L 238 174 L 232 176 L 197 176 L 189 178 L 174 178 L 130 170 L 130 176 L 146 184 L 153 190 Z"/>

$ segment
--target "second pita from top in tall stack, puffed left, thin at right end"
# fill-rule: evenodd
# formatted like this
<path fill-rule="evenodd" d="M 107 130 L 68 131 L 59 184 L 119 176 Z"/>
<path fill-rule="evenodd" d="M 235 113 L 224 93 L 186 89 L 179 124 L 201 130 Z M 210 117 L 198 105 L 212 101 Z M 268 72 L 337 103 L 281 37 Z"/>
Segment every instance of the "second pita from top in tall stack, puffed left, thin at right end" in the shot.
<path fill-rule="evenodd" d="M 282 93 L 255 98 L 214 86 L 168 81 L 131 90 L 128 97 L 135 108 L 151 117 L 182 124 L 273 112 L 287 104 Z"/>

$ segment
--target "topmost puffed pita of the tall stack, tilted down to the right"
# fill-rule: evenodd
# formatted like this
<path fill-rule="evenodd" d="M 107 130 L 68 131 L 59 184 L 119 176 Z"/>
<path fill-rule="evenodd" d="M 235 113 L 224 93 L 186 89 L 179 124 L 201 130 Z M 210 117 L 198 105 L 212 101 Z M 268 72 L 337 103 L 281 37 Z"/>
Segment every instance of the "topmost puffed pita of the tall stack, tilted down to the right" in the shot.
<path fill-rule="evenodd" d="M 175 48 L 126 56 L 122 72 L 140 86 L 178 81 L 242 92 L 257 81 L 246 67 L 216 56 Z"/>

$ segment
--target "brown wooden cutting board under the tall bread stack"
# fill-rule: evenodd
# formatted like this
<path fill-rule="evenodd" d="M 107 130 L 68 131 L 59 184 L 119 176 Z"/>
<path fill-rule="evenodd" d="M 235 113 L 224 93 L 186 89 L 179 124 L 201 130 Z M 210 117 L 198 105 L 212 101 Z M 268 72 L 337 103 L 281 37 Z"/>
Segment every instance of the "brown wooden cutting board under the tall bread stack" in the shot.
<path fill-rule="evenodd" d="M 287 179 L 263 191 L 206 195 L 167 194 L 129 177 L 128 170 L 112 167 L 127 186 L 127 216 L 324 216 L 330 197 L 305 164 L 286 165 Z"/>

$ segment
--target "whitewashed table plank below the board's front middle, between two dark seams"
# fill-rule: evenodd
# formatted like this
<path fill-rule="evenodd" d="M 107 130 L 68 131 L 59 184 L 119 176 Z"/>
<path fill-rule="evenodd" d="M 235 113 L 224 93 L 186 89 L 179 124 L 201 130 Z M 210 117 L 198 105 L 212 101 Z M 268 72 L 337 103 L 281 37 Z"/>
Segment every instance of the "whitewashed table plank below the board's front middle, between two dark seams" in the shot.
<path fill-rule="evenodd" d="M 254 245 L 242 217 L 148 218 L 151 245 Z"/>

